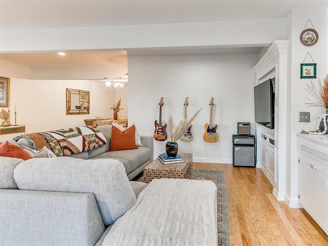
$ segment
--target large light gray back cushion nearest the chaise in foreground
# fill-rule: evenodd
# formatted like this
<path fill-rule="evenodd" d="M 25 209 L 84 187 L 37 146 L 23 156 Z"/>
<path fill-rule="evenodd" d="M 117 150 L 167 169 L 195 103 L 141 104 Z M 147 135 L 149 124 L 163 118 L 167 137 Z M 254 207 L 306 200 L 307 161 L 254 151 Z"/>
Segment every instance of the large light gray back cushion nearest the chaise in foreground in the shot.
<path fill-rule="evenodd" d="M 122 163 L 114 159 L 33 158 L 14 170 L 21 190 L 93 193 L 108 226 L 136 202 Z"/>

